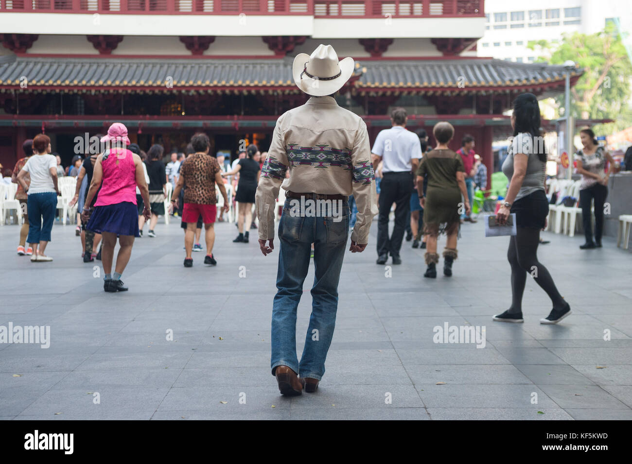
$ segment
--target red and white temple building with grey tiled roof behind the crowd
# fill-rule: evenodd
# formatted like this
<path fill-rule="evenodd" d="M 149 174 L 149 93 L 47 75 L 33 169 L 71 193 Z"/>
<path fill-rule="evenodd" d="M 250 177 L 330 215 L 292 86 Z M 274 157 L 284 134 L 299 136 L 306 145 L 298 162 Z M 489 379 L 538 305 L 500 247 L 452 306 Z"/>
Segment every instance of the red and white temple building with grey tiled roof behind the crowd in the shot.
<path fill-rule="evenodd" d="M 128 126 L 147 149 L 183 150 L 196 131 L 233 157 L 240 140 L 267 149 L 284 111 L 307 97 L 293 57 L 331 44 L 356 61 L 338 104 L 371 140 L 404 107 L 408 129 L 438 121 L 473 135 L 493 166 L 492 141 L 519 93 L 564 90 L 581 69 L 478 56 L 483 0 L 0 0 L 0 162 L 44 131 L 64 165 L 75 137 Z M 275 35 L 280 34 L 280 35 Z"/>

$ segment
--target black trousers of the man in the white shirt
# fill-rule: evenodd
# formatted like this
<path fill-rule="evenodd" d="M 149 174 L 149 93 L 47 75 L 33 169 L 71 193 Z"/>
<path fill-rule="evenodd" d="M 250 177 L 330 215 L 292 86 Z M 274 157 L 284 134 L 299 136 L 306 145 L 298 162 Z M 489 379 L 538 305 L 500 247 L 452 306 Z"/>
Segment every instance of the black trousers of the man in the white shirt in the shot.
<path fill-rule="evenodd" d="M 380 184 L 379 220 L 377 223 L 377 254 L 399 256 L 406 230 L 406 217 L 410 212 L 410 194 L 413 191 L 413 173 L 385 172 Z M 395 203 L 395 226 L 389 238 L 389 213 Z M 409 219 L 410 222 L 410 219 Z"/>

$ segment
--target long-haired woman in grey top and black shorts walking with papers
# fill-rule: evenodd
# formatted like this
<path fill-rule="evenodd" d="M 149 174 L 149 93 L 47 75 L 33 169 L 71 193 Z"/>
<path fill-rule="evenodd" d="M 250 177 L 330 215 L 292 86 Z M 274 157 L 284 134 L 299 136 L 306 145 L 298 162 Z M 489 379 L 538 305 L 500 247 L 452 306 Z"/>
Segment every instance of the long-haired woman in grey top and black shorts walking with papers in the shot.
<path fill-rule="evenodd" d="M 540 319 L 541 324 L 557 324 L 571 314 L 571 307 L 557 291 L 549 271 L 537 257 L 540 230 L 544 229 L 549 202 L 544 193 L 547 155 L 544 139 L 540 137 L 540 108 L 532 93 L 516 97 L 511 116 L 514 139 L 509 154 L 502 164 L 502 172 L 509 179 L 504 205 L 496 218 L 506 223 L 510 213 L 516 214 L 516 235 L 509 239 L 507 259 L 511 266 L 511 306 L 494 321 L 524 322 L 522 295 L 525 292 L 526 275 L 547 292 L 553 309 L 549 316 Z"/>

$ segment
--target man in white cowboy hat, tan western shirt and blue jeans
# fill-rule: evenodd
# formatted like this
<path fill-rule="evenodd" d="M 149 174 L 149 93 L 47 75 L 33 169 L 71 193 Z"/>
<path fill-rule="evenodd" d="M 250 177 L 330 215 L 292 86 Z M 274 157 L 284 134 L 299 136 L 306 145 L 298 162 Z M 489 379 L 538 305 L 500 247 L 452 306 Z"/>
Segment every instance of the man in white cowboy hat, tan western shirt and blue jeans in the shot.
<path fill-rule="evenodd" d="M 303 387 L 307 392 L 315 391 L 325 372 L 349 235 L 349 195 L 353 194 L 358 205 L 351 253 L 365 249 L 371 221 L 377 214 L 367 126 L 334 99 L 353 69 L 353 59 L 338 61 L 331 45 L 319 45 L 311 56 L 296 56 L 294 81 L 310 98 L 277 120 L 257 188 L 259 245 L 264 255 L 274 249 L 274 205 L 279 188 L 287 191 L 279 222 L 278 291 L 272 304 L 272 375 L 283 395 L 300 395 Z M 298 362 L 296 309 L 309 270 L 312 243 L 312 316 Z"/>

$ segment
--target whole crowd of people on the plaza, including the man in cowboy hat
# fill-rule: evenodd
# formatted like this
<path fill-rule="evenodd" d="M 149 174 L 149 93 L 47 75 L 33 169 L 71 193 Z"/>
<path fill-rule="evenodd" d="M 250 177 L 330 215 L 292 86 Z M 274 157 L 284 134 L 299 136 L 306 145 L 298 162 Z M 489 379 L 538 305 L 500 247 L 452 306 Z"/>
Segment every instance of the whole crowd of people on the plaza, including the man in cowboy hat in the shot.
<path fill-rule="evenodd" d="M 401 264 L 406 234 L 413 248 L 425 249 L 427 269 L 423 277 L 431 279 L 437 278 L 439 238 L 446 235 L 443 274 L 451 277 L 461 227 L 465 222 L 476 222 L 471 208 L 475 188 L 487 186 L 487 170 L 475 153 L 474 138 L 465 134 L 454 152 L 449 145 L 455 130 L 449 122 L 435 124 L 431 145 L 425 130 L 415 133 L 406 129 L 406 110 L 394 108 L 392 127 L 380 131 L 370 146 L 363 119 L 339 107 L 334 98 L 351 73 L 353 59 L 339 61 L 331 45 L 320 45 L 311 56 L 298 55 L 294 79 L 309 100 L 279 117 L 269 152 L 261 153 L 256 145 L 248 145 L 232 164 L 224 153 L 210 153 L 211 143 L 204 133 L 194 134 L 185 153 L 171 153 L 165 164 L 162 145 L 152 145 L 145 153 L 131 143 L 126 126 L 116 122 L 107 134 L 99 134 L 102 147 L 98 152 L 85 158 L 76 156 L 70 169 L 64 170 L 59 157 L 51 154 L 49 137 L 38 134 L 24 143 L 25 156 L 12 172 L 13 182 L 19 184 L 16 199 L 26 206 L 18 254 L 30 255 L 33 262 L 52 261 L 46 249 L 60 194 L 58 177 L 68 174 L 76 177 L 70 204 L 78 205 L 76 235 L 82 237 L 83 261 L 101 259 L 106 292 L 128 290 L 121 277 L 134 241 L 143 236 L 147 223 L 147 236 L 155 237 L 159 216 L 181 217 L 186 268 L 193 266 L 193 252 L 204 250 L 200 244 L 204 228 L 204 264 L 214 266 L 214 223 L 224 221 L 231 208 L 228 191 L 236 191 L 238 235 L 233 242 L 248 243 L 249 231 L 258 229 L 264 256 L 274 251 L 275 237 L 281 242 L 278 291 L 272 304 L 272 375 L 284 395 L 298 395 L 303 388 L 315 391 L 324 374 L 334 331 L 337 287 L 349 234 L 349 251 L 362 253 L 377 216 L 377 264 L 385 265 L 389 256 L 393 265 Z M 552 304 L 549 316 L 540 323 L 556 324 L 571 314 L 571 309 L 537 258 L 549 199 L 545 194 L 547 153 L 542 143 L 537 143 L 541 129 L 535 95 L 516 97 L 511 126 L 513 141 L 502 164 L 508 187 L 495 220 L 501 225 L 514 220 L 517 230 L 509 237 L 507 249 L 512 300 L 509 309 L 493 319 L 523 322 L 521 304 L 530 273 Z M 614 163 L 590 129 L 581 131 L 581 141 L 583 148 L 576 153 L 576 160 L 582 176 L 580 203 L 586 234 L 582 248 L 586 249 L 601 246 L 606 185 Z M 300 160 L 294 158 L 291 146 L 300 147 Z M 323 146 L 328 147 L 326 152 Z M 610 162 L 611 169 L 604 175 L 605 162 Z M 286 201 L 277 235 L 276 202 L 281 188 L 286 191 Z M 217 191 L 223 200 L 219 211 Z M 310 215 L 303 204 L 316 200 L 341 202 L 340 217 L 330 214 L 316 220 L 318 213 Z M 595 203 L 594 240 L 591 201 Z M 296 203 L 300 203 L 299 214 L 289 213 Z M 389 234 L 393 210 L 394 227 Z M 94 253 L 99 243 L 101 248 Z M 315 266 L 313 312 L 299 362 L 296 310 L 311 259 Z M 315 328 L 320 338 L 312 338 Z M 315 340 L 318 343 L 313 343 Z"/>

